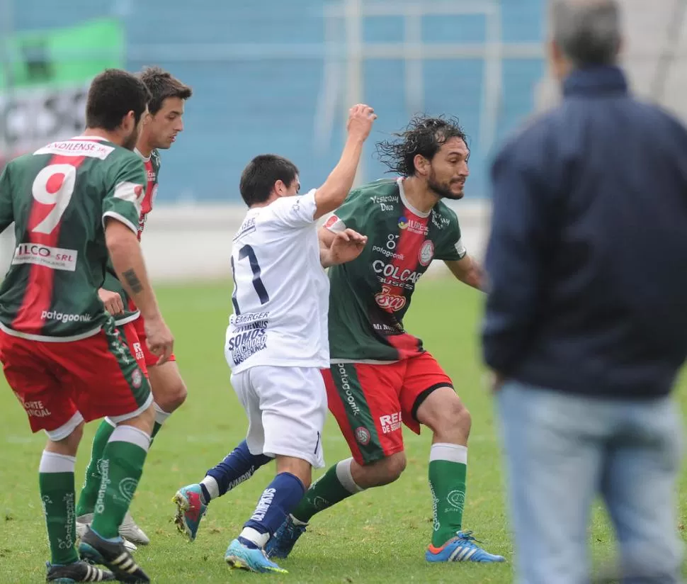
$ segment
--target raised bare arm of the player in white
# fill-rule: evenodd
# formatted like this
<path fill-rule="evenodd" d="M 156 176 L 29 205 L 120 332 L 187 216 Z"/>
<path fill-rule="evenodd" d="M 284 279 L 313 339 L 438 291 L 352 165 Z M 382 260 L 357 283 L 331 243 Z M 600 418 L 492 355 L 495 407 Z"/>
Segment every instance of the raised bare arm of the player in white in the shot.
<path fill-rule="evenodd" d="M 375 119 L 377 116 L 370 106 L 358 104 L 351 108 L 348 114 L 348 125 L 346 125 L 348 138 L 339 164 L 336 164 L 327 180 L 315 193 L 315 204 L 317 205 L 315 219 L 331 213 L 346 200 L 346 196 L 353 186 L 353 181 L 356 179 L 358 162 L 360 162 L 360 155 L 363 153 L 363 144 L 370 135 Z"/>

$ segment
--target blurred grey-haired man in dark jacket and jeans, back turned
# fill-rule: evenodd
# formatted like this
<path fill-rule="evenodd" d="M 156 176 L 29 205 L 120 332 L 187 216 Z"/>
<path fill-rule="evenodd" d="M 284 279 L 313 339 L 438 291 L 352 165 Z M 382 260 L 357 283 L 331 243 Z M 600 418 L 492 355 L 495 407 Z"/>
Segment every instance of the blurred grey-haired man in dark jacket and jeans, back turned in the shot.
<path fill-rule="evenodd" d="M 687 130 L 628 94 L 613 0 L 552 1 L 562 105 L 492 169 L 484 359 L 518 583 L 588 581 L 601 494 L 627 582 L 679 582 L 687 354 Z"/>

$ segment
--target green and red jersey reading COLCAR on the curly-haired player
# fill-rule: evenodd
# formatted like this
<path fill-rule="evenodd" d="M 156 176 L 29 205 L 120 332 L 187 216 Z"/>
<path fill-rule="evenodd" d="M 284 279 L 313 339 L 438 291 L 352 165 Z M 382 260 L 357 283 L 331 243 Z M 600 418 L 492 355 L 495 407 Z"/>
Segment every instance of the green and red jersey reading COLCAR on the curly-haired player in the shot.
<path fill-rule="evenodd" d="M 329 268 L 331 362 L 398 361 L 424 352 L 403 317 L 433 259 L 465 256 L 453 210 L 439 201 L 421 213 L 407 201 L 402 179 L 385 179 L 351 191 L 324 225 L 368 236 L 358 258 Z"/>

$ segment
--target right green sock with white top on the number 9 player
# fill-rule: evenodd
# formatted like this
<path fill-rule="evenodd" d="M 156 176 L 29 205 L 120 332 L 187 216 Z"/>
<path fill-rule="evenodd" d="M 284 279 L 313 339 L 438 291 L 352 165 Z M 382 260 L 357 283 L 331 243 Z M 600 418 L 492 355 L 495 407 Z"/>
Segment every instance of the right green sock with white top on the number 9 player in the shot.
<path fill-rule="evenodd" d="M 103 452 L 103 478 L 91 524 L 99 536 L 118 537 L 119 526 L 143 473 L 149 446 L 150 437 L 138 428 L 120 425 L 112 433 Z"/>

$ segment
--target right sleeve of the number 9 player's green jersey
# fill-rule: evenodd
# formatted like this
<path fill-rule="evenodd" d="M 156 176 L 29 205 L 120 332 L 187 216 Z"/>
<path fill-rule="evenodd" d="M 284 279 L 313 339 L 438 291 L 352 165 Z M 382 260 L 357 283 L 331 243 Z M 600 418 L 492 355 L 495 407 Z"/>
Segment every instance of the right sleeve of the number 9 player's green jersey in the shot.
<path fill-rule="evenodd" d="M 138 233 L 145 184 L 145 167 L 140 157 L 132 155 L 117 162 L 110 190 L 103 198 L 103 225 L 106 218 L 110 217 Z"/>

